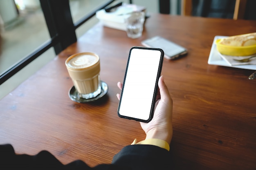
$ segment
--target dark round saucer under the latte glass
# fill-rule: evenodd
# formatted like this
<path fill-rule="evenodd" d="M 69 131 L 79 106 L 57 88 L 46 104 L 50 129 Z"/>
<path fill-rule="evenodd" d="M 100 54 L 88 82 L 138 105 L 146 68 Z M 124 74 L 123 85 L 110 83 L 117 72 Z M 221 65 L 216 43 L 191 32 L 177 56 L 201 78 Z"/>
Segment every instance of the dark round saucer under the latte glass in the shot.
<path fill-rule="evenodd" d="M 79 97 L 75 86 L 73 86 L 72 88 L 70 88 L 69 91 L 69 97 L 71 100 L 73 100 L 74 102 L 78 102 L 78 103 L 88 103 L 88 102 L 93 102 L 97 99 L 100 99 L 101 97 L 103 97 L 104 95 L 106 95 L 108 92 L 108 84 L 106 84 L 105 82 L 101 81 L 101 93 L 99 93 L 99 95 L 97 95 L 94 98 L 91 99 L 84 99 Z"/>

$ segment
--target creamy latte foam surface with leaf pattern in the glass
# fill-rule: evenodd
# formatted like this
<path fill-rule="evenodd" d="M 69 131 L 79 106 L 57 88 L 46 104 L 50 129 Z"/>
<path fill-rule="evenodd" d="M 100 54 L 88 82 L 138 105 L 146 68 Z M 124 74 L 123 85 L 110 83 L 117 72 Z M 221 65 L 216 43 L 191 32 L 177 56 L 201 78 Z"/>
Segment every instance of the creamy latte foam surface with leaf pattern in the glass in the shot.
<path fill-rule="evenodd" d="M 98 60 L 94 55 L 77 55 L 67 63 L 67 66 L 70 68 L 87 68 L 96 64 Z"/>

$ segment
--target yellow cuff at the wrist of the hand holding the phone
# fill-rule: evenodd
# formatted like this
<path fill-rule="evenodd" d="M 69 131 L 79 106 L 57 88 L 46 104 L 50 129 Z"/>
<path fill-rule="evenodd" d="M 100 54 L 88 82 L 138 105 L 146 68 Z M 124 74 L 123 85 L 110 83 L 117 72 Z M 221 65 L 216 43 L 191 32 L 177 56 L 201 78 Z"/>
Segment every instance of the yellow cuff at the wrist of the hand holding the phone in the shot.
<path fill-rule="evenodd" d="M 136 145 L 136 144 L 139 144 L 139 145 L 155 145 L 155 146 L 158 146 L 160 148 L 164 148 L 166 150 L 170 150 L 170 146 L 169 144 L 164 141 L 164 140 L 161 140 L 161 139 L 145 139 L 144 141 L 140 141 L 138 143 L 137 142 L 137 139 L 134 139 L 134 141 L 132 142 L 131 145 Z"/>

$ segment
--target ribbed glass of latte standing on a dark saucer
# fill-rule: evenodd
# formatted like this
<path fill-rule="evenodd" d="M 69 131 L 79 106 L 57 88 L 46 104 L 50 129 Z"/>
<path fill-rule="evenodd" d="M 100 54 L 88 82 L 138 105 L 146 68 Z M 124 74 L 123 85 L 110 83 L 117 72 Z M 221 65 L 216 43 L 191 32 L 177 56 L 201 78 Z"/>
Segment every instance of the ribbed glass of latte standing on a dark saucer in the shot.
<path fill-rule="evenodd" d="M 77 53 L 67 58 L 67 71 L 79 97 L 94 98 L 101 93 L 100 60 L 95 53 Z"/>

